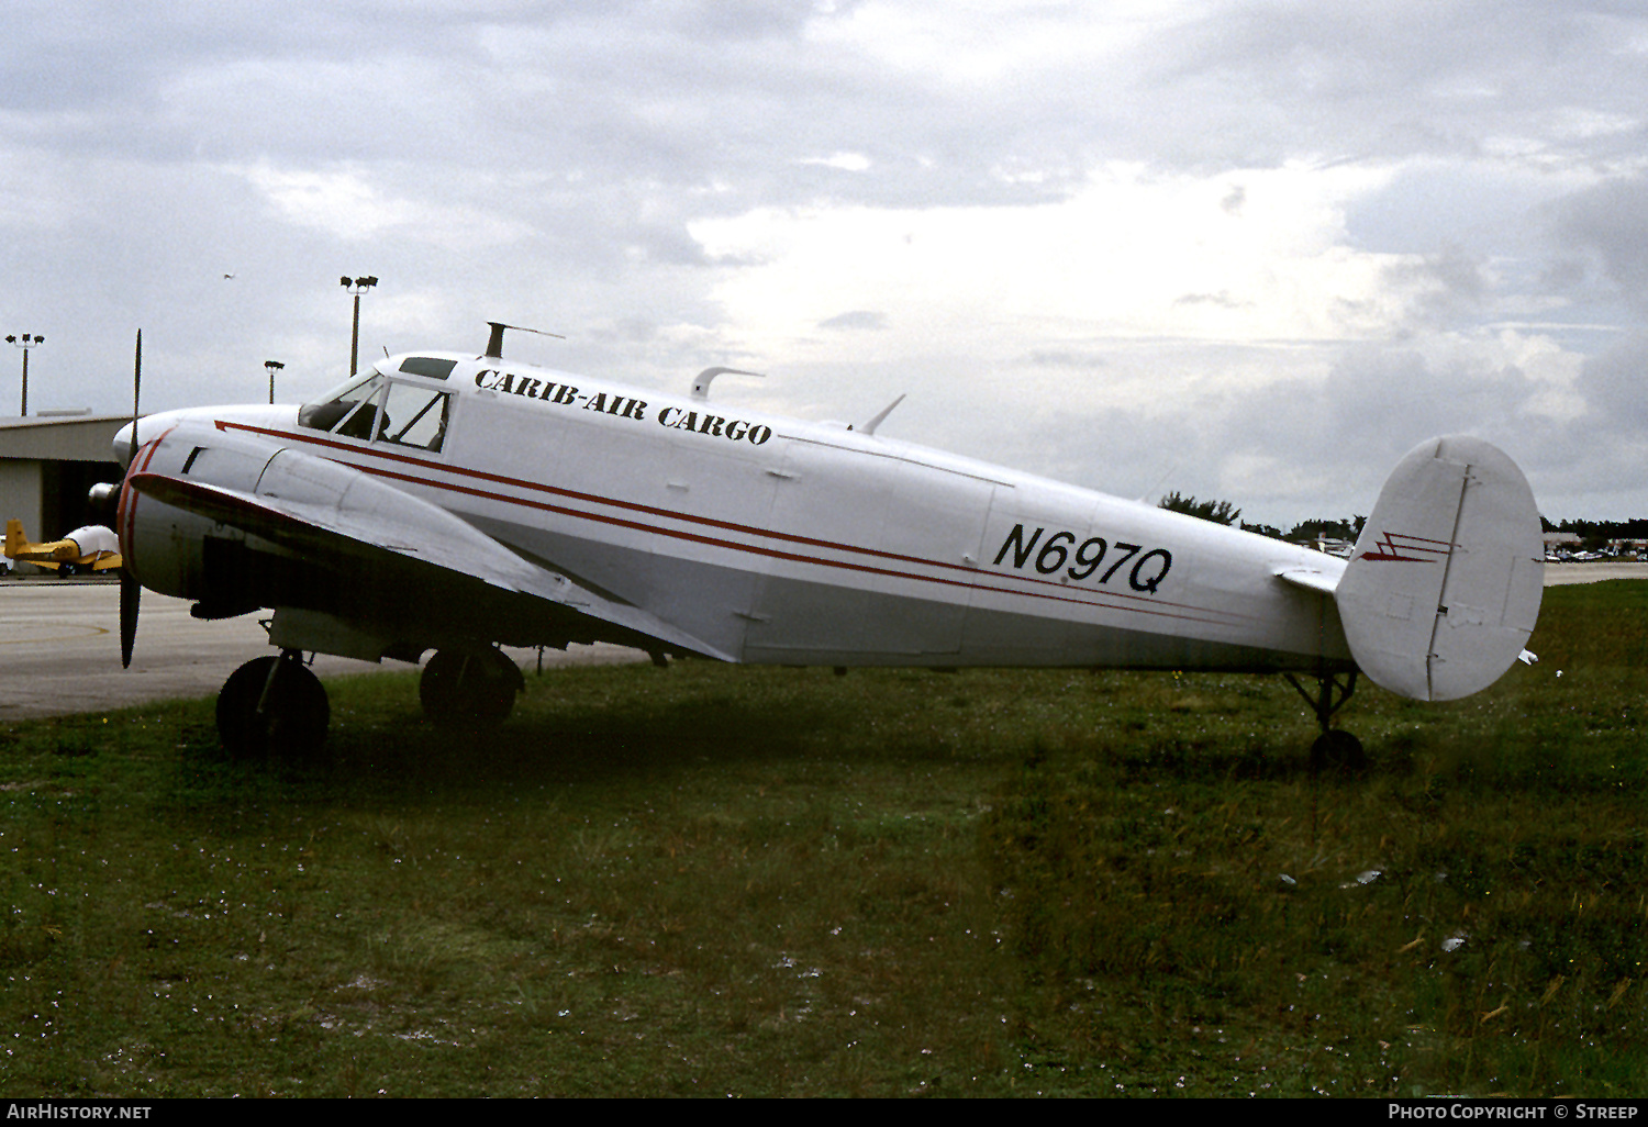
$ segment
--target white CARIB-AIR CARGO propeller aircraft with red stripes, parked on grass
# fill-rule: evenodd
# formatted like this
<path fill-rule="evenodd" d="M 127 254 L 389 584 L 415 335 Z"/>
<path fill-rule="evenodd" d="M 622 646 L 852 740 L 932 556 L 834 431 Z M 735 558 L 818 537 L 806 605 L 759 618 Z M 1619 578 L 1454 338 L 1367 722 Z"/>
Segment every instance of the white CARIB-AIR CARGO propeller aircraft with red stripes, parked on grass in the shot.
<path fill-rule="evenodd" d="M 887 412 L 854 428 L 722 407 L 709 386 L 730 369 L 666 395 L 509 362 L 504 328 L 302 407 L 133 419 L 115 440 L 125 661 L 138 583 L 198 618 L 272 610 L 279 657 L 218 697 L 231 750 L 325 737 L 305 652 L 433 649 L 425 712 L 489 723 L 522 685 L 499 644 L 608 641 L 658 662 L 1282 672 L 1317 753 L 1351 756 L 1330 718 L 1358 672 L 1463 697 L 1539 613 L 1533 494 L 1477 438 L 1409 453 L 1345 562 L 883 438 Z"/>

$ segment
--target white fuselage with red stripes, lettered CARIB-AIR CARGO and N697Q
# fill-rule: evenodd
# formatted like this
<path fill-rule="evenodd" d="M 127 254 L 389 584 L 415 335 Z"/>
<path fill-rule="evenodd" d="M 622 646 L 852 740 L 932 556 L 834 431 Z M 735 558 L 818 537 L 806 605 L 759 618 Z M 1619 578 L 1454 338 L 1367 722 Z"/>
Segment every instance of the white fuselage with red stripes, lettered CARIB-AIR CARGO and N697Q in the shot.
<path fill-rule="evenodd" d="M 435 451 L 292 407 L 140 435 L 209 419 L 354 466 L 748 662 L 1350 667 L 1332 596 L 1276 578 L 1333 557 L 845 427 L 417 356 L 455 366 L 379 371 L 452 394 Z"/>

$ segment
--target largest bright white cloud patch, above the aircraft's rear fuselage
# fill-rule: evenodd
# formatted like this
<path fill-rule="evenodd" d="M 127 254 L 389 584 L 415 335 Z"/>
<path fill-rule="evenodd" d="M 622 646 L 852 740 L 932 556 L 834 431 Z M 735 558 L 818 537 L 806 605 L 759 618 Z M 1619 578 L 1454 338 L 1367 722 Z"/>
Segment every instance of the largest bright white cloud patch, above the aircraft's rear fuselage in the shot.
<path fill-rule="evenodd" d="M 1218 176 L 1094 170 L 1063 201 L 969 208 L 763 208 L 692 224 L 720 274 L 728 328 L 780 348 L 842 306 L 1002 354 L 1000 328 L 1038 349 L 1094 336 L 1363 339 L 1406 328 L 1450 259 L 1345 244 L 1348 201 L 1388 173 L 1239 170 Z M 1244 203 L 1224 203 L 1233 183 Z"/>

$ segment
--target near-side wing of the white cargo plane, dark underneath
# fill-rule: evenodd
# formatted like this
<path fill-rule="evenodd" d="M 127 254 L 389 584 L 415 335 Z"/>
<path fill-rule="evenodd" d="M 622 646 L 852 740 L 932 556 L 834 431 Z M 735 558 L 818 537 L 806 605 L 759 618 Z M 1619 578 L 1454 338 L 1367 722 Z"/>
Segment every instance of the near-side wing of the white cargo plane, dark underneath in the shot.
<path fill-rule="evenodd" d="M 250 544 L 274 545 L 293 567 L 326 573 L 323 583 L 300 585 L 328 587 L 325 596 L 293 603 L 366 634 L 419 644 L 427 634 L 433 646 L 433 634 L 452 633 L 456 621 L 471 638 L 506 644 L 615 641 L 732 661 L 644 608 L 597 593 L 550 570 L 552 562 L 521 559 L 440 506 L 335 461 L 282 450 L 259 476 L 257 493 L 165 473 L 140 471 L 127 481 L 147 498 L 252 537 Z M 255 605 L 283 601 L 280 592 L 270 598 L 265 590 Z M 420 634 L 419 621 L 432 624 Z"/>

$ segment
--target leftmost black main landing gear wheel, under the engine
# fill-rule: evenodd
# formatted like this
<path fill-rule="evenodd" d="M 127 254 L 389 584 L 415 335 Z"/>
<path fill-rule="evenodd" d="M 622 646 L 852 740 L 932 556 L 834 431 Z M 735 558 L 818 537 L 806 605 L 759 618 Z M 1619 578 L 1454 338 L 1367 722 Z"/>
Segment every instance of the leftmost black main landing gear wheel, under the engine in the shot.
<path fill-rule="evenodd" d="M 326 689 L 295 649 L 246 662 L 218 692 L 218 738 L 232 756 L 311 756 L 330 723 Z"/>

